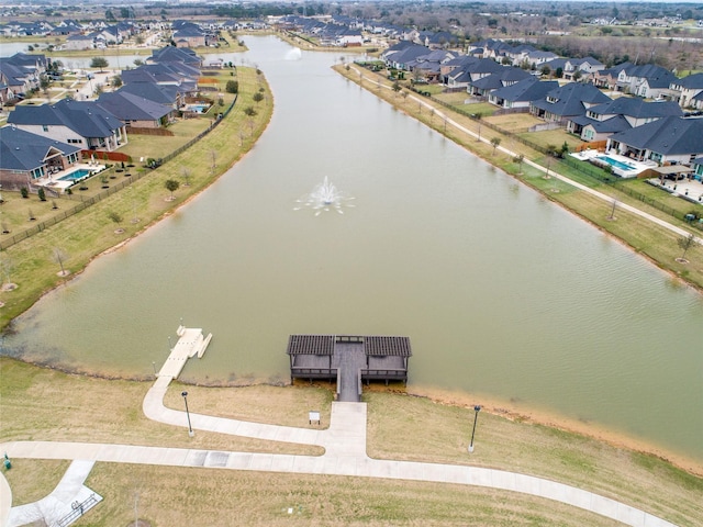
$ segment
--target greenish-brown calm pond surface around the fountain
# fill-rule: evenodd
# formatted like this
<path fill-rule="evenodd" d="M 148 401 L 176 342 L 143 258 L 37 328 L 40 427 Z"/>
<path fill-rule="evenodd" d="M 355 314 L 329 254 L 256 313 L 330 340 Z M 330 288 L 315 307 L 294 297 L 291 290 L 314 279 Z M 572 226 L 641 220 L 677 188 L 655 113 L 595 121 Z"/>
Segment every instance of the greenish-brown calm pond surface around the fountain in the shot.
<path fill-rule="evenodd" d="M 703 460 L 699 293 L 339 77 L 337 54 L 247 44 L 276 100 L 254 150 L 45 296 L 4 354 L 146 377 L 182 317 L 214 334 L 186 379 L 287 382 L 290 334 L 406 335 L 411 389 Z M 325 176 L 355 206 L 295 210 Z"/>

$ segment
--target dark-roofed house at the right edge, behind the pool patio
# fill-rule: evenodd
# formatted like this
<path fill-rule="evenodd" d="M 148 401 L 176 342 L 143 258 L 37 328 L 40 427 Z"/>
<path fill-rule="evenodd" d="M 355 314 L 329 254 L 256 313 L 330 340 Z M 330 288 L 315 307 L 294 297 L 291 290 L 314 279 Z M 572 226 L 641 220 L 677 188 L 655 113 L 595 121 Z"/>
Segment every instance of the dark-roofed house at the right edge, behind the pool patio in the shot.
<path fill-rule="evenodd" d="M 703 119 L 662 117 L 607 139 L 607 149 L 639 161 L 687 165 L 703 155 Z"/>

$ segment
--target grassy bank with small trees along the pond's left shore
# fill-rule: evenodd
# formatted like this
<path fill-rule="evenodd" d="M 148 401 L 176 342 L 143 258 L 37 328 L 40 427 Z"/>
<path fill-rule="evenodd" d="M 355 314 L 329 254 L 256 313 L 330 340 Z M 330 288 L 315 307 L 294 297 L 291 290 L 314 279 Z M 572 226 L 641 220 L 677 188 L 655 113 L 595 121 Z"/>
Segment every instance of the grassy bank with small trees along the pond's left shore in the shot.
<path fill-rule="evenodd" d="M 29 309 L 47 290 L 63 281 L 54 261 L 55 249 L 67 255 L 64 264 L 71 272 L 79 272 L 96 255 L 113 247 L 143 231 L 191 195 L 205 189 L 214 179 L 228 169 L 255 144 L 265 130 L 272 112 L 272 98 L 263 76 L 252 68 L 237 68 L 239 103 L 215 131 L 199 141 L 177 159 L 165 164 L 147 176 L 99 203 L 57 225 L 46 228 L 20 242 L 0 257 L 3 265 L 13 269 L 12 282 L 19 288 L 0 291 L 0 327 L 7 326 L 16 315 Z M 223 74 L 224 75 L 224 74 Z M 228 74 L 226 74 L 228 75 Z M 253 94 L 264 88 L 265 99 L 253 101 Z M 256 114 L 245 114 L 247 106 L 256 105 Z M 232 141 L 237 137 L 239 141 Z M 212 167 L 212 153 L 215 166 Z M 164 152 L 166 155 L 167 152 Z M 188 173 L 188 186 L 183 173 Z M 166 201 L 169 192 L 164 188 L 167 179 L 179 179 L 181 188 L 175 201 Z M 90 186 L 98 184 L 94 180 Z M 80 191 L 78 191 L 80 192 Z M 90 191 L 86 191 L 90 192 Z M 74 200 L 80 199 L 75 192 Z M 62 200 L 63 201 L 63 200 Z M 110 218 L 118 214 L 124 221 L 118 226 Z M 130 218 L 138 218 L 133 223 Z M 115 233 L 116 229 L 119 233 Z"/>

